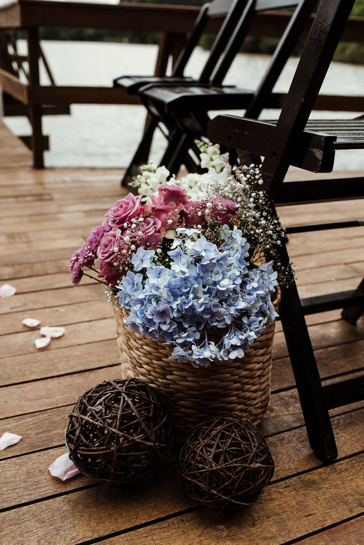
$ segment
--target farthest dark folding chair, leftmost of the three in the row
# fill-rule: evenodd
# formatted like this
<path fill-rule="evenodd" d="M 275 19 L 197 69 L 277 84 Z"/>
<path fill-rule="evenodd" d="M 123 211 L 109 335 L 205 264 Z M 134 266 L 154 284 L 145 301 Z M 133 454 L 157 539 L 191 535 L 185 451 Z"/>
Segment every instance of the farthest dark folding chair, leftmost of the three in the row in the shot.
<path fill-rule="evenodd" d="M 174 83 L 180 85 L 184 83 L 196 83 L 196 80 L 193 80 L 192 77 L 187 77 L 184 75 L 184 70 L 187 62 L 189 62 L 191 54 L 198 45 L 199 39 L 202 37 L 208 22 L 216 19 L 217 17 L 225 17 L 225 19 L 223 19 L 220 32 L 217 34 L 213 49 L 211 50 L 210 65 L 212 68 L 215 66 L 227 44 L 230 35 L 233 33 L 236 21 L 239 20 L 245 4 L 246 0 L 213 0 L 211 3 L 204 4 L 199 12 L 190 37 L 173 66 L 171 76 L 119 76 L 113 80 L 113 86 L 123 88 L 128 94 L 137 95 L 141 87 L 151 83 Z M 208 77 L 208 71 L 208 69 L 205 70 L 205 77 Z M 137 148 L 129 168 L 126 170 L 122 185 L 127 185 L 129 181 L 131 181 L 132 176 L 140 172 L 138 167 L 142 162 L 148 162 L 151 141 L 158 126 L 158 119 L 156 117 L 147 117 L 143 138 Z M 161 126 L 159 126 L 159 128 L 163 134 L 165 134 Z M 165 134 L 165 136 L 168 137 L 167 134 Z"/>

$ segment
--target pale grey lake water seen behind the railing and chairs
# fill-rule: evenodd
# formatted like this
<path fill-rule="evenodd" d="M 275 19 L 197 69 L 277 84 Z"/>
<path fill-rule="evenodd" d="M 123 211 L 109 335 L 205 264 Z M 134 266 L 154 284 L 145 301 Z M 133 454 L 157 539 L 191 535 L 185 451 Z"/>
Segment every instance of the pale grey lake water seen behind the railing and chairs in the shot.
<path fill-rule="evenodd" d="M 20 41 L 20 51 L 25 44 Z M 44 41 L 43 49 L 59 85 L 110 86 L 122 74 L 153 74 L 157 46 L 95 42 Z M 207 52 L 198 48 L 186 74 L 198 76 Z M 240 53 L 225 80 L 240 87 L 254 88 L 260 81 L 269 57 Z M 275 89 L 287 91 L 298 59 L 290 59 Z M 47 84 L 44 70 L 41 82 Z M 326 94 L 363 95 L 364 66 L 332 63 L 323 84 Z M 217 112 L 214 112 L 214 115 Z M 241 114 L 241 111 L 230 111 Z M 274 118 L 274 111 L 264 111 L 262 118 Z M 314 112 L 312 118 L 355 117 L 353 112 Z M 71 116 L 43 118 L 44 134 L 50 136 L 51 150 L 45 153 L 46 166 L 123 167 L 129 164 L 139 142 L 145 120 L 142 106 L 72 105 Z M 6 118 L 15 134 L 29 134 L 26 118 Z M 165 140 L 155 138 L 151 157 L 157 162 Z M 362 168 L 362 150 L 336 154 L 335 169 Z"/>

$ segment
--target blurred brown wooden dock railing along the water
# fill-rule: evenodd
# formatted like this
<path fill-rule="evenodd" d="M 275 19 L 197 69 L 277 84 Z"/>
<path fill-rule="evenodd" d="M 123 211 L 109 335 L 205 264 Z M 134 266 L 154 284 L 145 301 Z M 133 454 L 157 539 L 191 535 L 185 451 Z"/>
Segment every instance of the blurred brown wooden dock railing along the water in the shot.
<path fill-rule="evenodd" d="M 155 31 L 159 33 L 159 52 L 155 74 L 166 73 L 168 60 L 172 62 L 181 51 L 186 34 L 193 27 L 199 7 L 167 4 L 118 5 L 57 2 L 45 0 L 15 0 L 0 6 L 0 87 L 7 99 L 9 112 L 23 113 L 32 124 L 32 136 L 25 142 L 33 151 L 33 164 L 43 168 L 43 152 L 48 149 L 42 132 L 42 116 L 69 113 L 71 104 L 138 104 L 134 96 L 120 88 L 95 86 L 58 86 L 44 56 L 39 41 L 39 27 L 102 28 L 108 30 Z M 265 11 L 259 14 L 250 35 L 279 37 L 286 27 L 289 13 Z M 219 18 L 211 20 L 208 33 L 216 33 Z M 311 23 L 302 37 L 307 35 Z M 25 31 L 28 52 L 17 53 L 15 34 Z M 343 34 L 344 41 L 364 41 L 364 17 L 351 17 Z M 9 47 L 10 45 L 10 47 Z M 43 62 L 50 84 L 41 85 L 39 63 Z M 119 67 L 116 66 L 116 75 Z M 21 81 L 21 72 L 26 82 Z M 319 110 L 364 111 L 364 97 L 321 95 Z M 6 113 L 6 110 L 5 110 Z"/>

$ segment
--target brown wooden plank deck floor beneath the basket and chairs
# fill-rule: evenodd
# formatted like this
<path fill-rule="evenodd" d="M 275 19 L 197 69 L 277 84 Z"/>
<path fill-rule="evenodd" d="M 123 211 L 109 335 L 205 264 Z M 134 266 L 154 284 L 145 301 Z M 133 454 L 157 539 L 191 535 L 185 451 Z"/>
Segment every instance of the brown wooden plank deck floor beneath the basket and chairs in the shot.
<path fill-rule="evenodd" d="M 246 512 L 216 516 L 179 486 L 176 458 L 138 488 L 109 488 L 78 475 L 61 482 L 48 466 L 65 452 L 64 429 L 78 396 L 119 377 L 112 308 L 99 285 L 72 287 L 67 262 L 120 198 L 120 171 L 31 168 L 26 148 L 0 126 L 0 435 L 23 435 L 0 453 L 1 542 L 12 545 L 362 545 L 364 402 L 332 411 L 338 459 L 310 451 L 280 324 L 272 398 L 262 425 L 274 478 Z M 13 137 L 14 138 L 14 137 Z M 5 139 L 7 141 L 5 149 Z M 363 201 L 281 209 L 284 225 L 363 217 Z M 290 236 L 302 296 L 356 287 L 364 274 L 364 227 Z M 42 325 L 63 337 L 35 350 Z M 308 316 L 321 376 L 335 380 L 364 367 L 364 317 L 354 327 L 339 311 Z"/>

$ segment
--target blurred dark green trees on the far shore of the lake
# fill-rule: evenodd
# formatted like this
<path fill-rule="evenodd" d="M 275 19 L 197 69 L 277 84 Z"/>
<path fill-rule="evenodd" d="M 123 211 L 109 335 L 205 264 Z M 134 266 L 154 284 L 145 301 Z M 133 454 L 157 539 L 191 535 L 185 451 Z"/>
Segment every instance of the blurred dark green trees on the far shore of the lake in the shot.
<path fill-rule="evenodd" d="M 122 0 L 124 1 L 124 0 Z M 128 1 L 128 0 L 125 0 Z M 130 1 L 130 0 L 129 0 Z M 204 0 L 131 0 L 140 3 L 158 3 L 175 5 L 202 5 Z M 352 15 L 364 17 L 364 0 L 356 0 Z M 81 40 L 81 41 L 114 41 L 139 44 L 157 44 L 157 32 L 138 31 L 107 31 L 93 28 L 40 28 L 40 38 L 43 40 Z M 202 37 L 200 45 L 204 49 L 210 49 L 214 36 L 206 34 Z M 274 52 L 277 40 L 274 38 L 247 38 L 242 51 L 248 53 L 271 54 Z M 294 54 L 299 55 L 303 42 L 299 43 Z M 341 43 L 335 53 L 335 60 L 347 63 L 364 64 L 364 44 Z"/>

